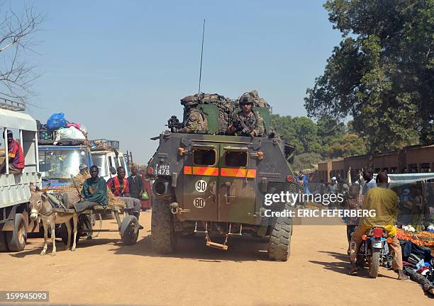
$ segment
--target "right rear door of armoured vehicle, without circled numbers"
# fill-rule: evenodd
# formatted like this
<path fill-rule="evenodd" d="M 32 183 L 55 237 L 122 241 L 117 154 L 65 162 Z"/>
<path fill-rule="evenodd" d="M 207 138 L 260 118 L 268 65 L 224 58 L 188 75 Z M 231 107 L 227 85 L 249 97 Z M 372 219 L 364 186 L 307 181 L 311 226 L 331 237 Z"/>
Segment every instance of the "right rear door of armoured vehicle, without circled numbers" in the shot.
<path fill-rule="evenodd" d="M 242 145 L 221 145 L 218 220 L 255 222 L 256 160 Z"/>

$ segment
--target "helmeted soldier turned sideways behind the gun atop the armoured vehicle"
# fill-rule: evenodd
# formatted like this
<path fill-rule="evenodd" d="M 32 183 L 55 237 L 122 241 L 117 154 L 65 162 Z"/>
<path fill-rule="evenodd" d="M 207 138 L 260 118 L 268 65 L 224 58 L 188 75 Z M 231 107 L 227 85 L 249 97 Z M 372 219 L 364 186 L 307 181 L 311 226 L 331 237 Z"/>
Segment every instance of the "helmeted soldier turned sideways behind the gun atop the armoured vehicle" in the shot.
<path fill-rule="evenodd" d="M 185 111 L 189 117 L 184 123 L 184 128 L 174 130 L 174 132 L 206 132 L 206 130 L 208 130 L 208 122 L 204 113 L 196 109 L 196 106 L 199 104 L 196 96 L 186 96 L 185 98 L 182 98 L 181 104 L 185 107 Z"/>

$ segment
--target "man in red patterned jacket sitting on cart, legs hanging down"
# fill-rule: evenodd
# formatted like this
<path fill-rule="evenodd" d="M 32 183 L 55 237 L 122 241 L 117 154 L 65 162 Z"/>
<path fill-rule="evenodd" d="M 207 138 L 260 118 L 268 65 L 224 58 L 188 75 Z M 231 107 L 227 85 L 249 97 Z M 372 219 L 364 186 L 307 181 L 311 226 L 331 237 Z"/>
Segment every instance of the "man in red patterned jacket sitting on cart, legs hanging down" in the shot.
<path fill-rule="evenodd" d="M 128 210 L 131 210 L 133 215 L 135 215 L 138 220 L 140 217 L 140 208 L 142 204 L 140 203 L 139 199 L 131 198 L 130 196 L 130 185 L 128 183 L 128 179 L 125 177 L 125 168 L 123 168 L 123 166 L 119 166 L 116 171 L 118 172 L 118 176 L 115 176 L 107 181 L 107 188 L 110 188 L 113 196 L 121 198 L 121 200 L 126 203 Z M 143 226 L 140 225 L 139 229 L 143 229 Z"/>

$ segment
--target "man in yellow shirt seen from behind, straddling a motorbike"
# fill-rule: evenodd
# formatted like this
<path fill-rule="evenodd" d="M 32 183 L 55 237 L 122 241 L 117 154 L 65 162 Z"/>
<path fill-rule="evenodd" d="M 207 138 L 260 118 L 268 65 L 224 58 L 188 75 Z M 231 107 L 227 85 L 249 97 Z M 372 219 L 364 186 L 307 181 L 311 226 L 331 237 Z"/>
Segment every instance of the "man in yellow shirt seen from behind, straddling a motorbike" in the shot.
<path fill-rule="evenodd" d="M 389 244 L 389 250 L 394 254 L 392 267 L 398 271 L 398 279 L 406 280 L 408 277 L 404 274 L 402 264 L 401 244 L 396 238 L 396 216 L 398 215 L 398 195 L 388 187 L 388 176 L 384 172 L 377 175 L 378 187 L 370 188 L 363 199 L 362 210 L 375 210 L 374 217 L 361 217 L 359 225 L 351 237 L 350 243 L 350 274 L 357 273 L 357 253 L 362 244 L 362 235 L 373 226 L 382 226 L 386 229 L 387 237 L 391 237 L 392 242 Z"/>

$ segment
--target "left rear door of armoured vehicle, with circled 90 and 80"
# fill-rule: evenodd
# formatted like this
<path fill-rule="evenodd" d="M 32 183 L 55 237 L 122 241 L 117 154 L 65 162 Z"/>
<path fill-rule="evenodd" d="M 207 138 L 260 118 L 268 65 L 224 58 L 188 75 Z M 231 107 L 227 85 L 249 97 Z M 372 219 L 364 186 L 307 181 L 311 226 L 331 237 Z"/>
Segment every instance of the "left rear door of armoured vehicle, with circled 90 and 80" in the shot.
<path fill-rule="evenodd" d="M 204 142 L 193 145 L 184 155 L 183 218 L 217 221 L 219 145 Z"/>

